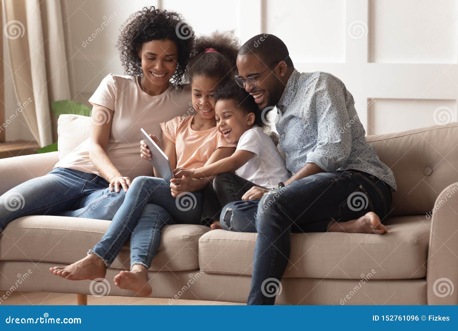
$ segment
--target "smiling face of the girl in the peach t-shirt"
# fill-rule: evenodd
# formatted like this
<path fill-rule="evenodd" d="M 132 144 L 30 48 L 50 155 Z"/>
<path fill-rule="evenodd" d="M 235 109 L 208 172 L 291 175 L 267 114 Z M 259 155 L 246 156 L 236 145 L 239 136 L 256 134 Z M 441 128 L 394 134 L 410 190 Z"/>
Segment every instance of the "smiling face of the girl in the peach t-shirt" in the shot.
<path fill-rule="evenodd" d="M 215 100 L 213 95 L 220 81 L 219 78 L 207 76 L 192 77 L 191 101 L 196 112 L 204 119 L 215 117 Z"/>

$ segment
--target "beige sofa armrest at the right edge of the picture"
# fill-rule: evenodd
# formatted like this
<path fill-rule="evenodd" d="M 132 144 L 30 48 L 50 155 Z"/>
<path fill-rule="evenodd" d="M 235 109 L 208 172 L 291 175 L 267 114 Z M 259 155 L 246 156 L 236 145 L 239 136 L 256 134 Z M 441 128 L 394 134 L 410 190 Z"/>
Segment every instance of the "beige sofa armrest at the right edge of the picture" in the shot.
<path fill-rule="evenodd" d="M 458 183 L 439 194 L 432 210 L 427 269 L 428 304 L 458 304 Z"/>

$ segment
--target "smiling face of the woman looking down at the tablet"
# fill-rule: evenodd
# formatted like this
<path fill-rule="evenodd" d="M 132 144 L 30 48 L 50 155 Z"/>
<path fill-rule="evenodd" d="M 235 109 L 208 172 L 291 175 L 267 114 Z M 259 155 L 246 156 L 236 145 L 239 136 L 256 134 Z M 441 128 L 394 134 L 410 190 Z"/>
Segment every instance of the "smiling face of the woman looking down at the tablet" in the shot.
<path fill-rule="evenodd" d="M 138 56 L 142 59 L 145 78 L 154 86 L 169 84 L 178 61 L 178 47 L 174 41 L 152 40 L 143 43 Z"/>

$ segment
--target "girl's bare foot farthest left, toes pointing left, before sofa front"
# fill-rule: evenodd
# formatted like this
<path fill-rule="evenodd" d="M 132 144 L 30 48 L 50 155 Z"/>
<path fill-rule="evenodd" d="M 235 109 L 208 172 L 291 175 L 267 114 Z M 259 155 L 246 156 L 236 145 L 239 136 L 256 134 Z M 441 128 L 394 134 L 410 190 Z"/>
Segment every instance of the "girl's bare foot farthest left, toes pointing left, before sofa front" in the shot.
<path fill-rule="evenodd" d="M 88 254 L 84 259 L 76 261 L 68 266 L 55 266 L 49 268 L 56 276 L 60 276 L 72 281 L 81 281 L 83 279 L 94 280 L 96 278 L 105 278 L 107 267 L 104 261 L 95 254 Z"/>

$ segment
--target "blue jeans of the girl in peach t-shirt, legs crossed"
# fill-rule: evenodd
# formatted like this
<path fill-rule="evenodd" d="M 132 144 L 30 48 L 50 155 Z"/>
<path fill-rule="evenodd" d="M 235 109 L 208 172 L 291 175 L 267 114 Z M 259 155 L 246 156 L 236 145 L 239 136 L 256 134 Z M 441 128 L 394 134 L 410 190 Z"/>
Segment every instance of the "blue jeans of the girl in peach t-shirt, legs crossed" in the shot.
<path fill-rule="evenodd" d="M 89 253 L 98 255 L 110 266 L 131 237 L 131 267 L 141 264 L 149 269 L 164 225 L 199 224 L 201 215 L 201 191 L 185 192 L 175 199 L 164 179 L 137 177 L 107 232 Z"/>

